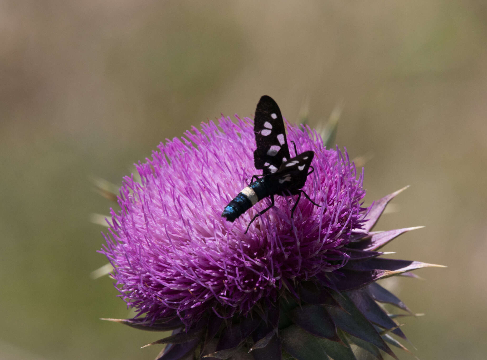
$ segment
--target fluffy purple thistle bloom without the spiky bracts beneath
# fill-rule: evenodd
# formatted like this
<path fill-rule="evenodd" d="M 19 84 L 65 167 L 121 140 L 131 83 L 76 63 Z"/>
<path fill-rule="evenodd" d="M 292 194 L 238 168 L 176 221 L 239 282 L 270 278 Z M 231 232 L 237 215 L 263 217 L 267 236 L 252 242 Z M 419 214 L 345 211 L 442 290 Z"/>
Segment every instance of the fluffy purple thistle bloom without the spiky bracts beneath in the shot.
<path fill-rule="evenodd" d="M 237 117 L 238 118 L 238 117 Z M 137 165 L 141 182 L 126 177 L 121 211 L 112 210 L 107 255 L 124 300 L 148 319 L 178 315 L 190 325 L 208 309 L 221 317 L 246 314 L 259 301 L 276 301 L 296 281 L 347 263 L 342 247 L 361 229 L 366 208 L 363 173 L 346 152 L 326 150 L 308 127 L 287 124 L 298 152 L 316 153 L 304 190 L 321 207 L 293 197 L 244 234 L 258 204 L 235 223 L 222 208 L 255 173 L 253 122 L 229 118 L 202 124 L 181 139 L 159 145 Z"/>

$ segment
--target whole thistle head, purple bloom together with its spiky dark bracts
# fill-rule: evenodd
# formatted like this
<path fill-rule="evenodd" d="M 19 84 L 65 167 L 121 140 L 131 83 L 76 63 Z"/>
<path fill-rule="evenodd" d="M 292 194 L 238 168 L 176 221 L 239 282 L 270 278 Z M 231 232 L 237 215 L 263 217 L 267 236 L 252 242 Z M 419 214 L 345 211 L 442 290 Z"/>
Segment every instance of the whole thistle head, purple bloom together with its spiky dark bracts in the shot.
<path fill-rule="evenodd" d="M 329 150 L 307 126 L 285 123 L 298 153 L 315 152 L 303 190 L 315 207 L 279 196 L 245 233 L 266 200 L 235 222 L 222 209 L 255 173 L 253 122 L 192 128 L 159 145 L 125 177 L 119 211 L 100 252 L 134 319 L 107 319 L 138 329 L 173 330 L 157 359 L 356 359 L 355 344 L 394 358 L 388 332 L 406 339 L 380 304 L 411 310 L 375 281 L 436 266 L 384 259 L 378 251 L 412 228 L 371 232 L 387 203 L 403 189 L 362 206 L 363 171 L 346 151 Z M 248 354 L 249 353 L 249 354 Z M 397 359 L 397 358 L 396 358 Z"/>

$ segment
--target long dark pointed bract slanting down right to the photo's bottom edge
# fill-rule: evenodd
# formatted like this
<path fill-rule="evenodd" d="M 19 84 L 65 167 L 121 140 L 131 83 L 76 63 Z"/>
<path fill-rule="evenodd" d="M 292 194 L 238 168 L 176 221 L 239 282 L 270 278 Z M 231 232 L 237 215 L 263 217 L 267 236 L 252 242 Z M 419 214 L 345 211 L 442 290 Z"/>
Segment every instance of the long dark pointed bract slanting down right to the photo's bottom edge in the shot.
<path fill-rule="evenodd" d="M 387 344 L 382 340 L 378 332 L 375 330 L 374 325 L 372 325 L 367 318 L 357 309 L 355 304 L 345 295 L 339 294 L 335 291 L 331 291 L 331 294 L 337 300 L 338 303 L 348 312 L 344 312 L 336 307 L 328 307 L 328 313 L 332 317 L 333 321 L 338 328 L 346 331 L 347 333 L 360 338 L 362 340 L 368 341 L 375 346 L 377 346 L 382 351 L 391 355 L 397 360 L 393 351 L 387 346 Z"/>

